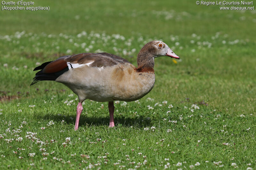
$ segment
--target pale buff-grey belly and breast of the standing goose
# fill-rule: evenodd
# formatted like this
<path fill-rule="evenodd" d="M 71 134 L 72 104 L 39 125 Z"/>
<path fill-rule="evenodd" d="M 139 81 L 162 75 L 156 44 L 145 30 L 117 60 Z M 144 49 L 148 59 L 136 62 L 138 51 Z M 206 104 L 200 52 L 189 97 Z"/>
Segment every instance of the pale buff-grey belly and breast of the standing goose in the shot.
<path fill-rule="evenodd" d="M 86 72 L 71 69 L 56 79 L 77 94 L 79 101 L 90 99 L 98 102 L 113 100 L 134 101 L 152 90 L 155 74 L 139 74 L 134 68 L 90 68 Z"/>

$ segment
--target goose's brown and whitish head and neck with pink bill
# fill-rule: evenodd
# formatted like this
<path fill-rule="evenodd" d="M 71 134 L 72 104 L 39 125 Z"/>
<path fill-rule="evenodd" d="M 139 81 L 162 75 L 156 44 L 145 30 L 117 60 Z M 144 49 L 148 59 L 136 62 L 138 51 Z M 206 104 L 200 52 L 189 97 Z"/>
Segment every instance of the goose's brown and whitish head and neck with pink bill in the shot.
<path fill-rule="evenodd" d="M 141 71 L 154 71 L 154 58 L 161 56 L 169 56 L 172 58 L 180 59 L 169 47 L 162 41 L 150 41 L 144 45 L 137 57 L 139 72 Z"/>

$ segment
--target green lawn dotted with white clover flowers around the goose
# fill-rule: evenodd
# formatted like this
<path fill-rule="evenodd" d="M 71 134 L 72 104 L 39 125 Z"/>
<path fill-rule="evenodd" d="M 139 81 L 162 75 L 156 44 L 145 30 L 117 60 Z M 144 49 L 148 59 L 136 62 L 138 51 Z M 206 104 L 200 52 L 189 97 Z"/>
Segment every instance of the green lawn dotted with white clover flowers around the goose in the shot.
<path fill-rule="evenodd" d="M 199 162 L 191 168 L 256 169 L 255 11 L 220 11 L 194 1 L 35 4 L 50 11 L 0 15 L 1 168 L 164 169 L 169 163 L 190 169 Z M 62 55 L 104 51 L 137 66 L 140 48 L 154 39 L 181 60 L 155 59 L 155 87 L 139 103 L 115 104 L 114 128 L 108 128 L 108 104 L 86 100 L 74 131 L 76 95 L 55 82 L 29 86 L 36 64 Z M 192 113 L 193 104 L 200 109 Z M 32 140 L 27 132 L 37 134 Z"/>

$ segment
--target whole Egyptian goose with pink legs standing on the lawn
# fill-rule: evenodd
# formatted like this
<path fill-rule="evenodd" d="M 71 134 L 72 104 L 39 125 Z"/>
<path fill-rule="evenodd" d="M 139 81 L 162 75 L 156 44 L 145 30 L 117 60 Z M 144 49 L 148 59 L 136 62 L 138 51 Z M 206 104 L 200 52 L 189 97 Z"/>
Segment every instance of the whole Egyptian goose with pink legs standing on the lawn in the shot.
<path fill-rule="evenodd" d="M 114 127 L 114 100 L 134 101 L 152 90 L 155 84 L 154 58 L 178 55 L 162 41 L 150 41 L 141 48 L 138 68 L 119 56 L 109 53 L 81 53 L 66 55 L 55 61 L 36 67 L 31 85 L 41 80 L 60 82 L 78 96 L 75 130 L 83 111 L 82 102 L 90 99 L 98 102 L 108 101 L 109 127 Z"/>

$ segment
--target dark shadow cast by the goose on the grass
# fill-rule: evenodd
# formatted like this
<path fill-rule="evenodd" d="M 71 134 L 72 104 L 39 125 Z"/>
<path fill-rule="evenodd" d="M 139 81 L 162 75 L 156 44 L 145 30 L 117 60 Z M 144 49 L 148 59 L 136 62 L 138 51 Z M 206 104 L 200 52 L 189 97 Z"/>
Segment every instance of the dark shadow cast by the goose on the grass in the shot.
<path fill-rule="evenodd" d="M 65 116 L 65 115 L 53 115 L 53 114 L 46 114 L 46 115 L 38 115 L 35 114 L 34 115 L 36 119 L 40 119 L 40 120 L 53 120 L 53 121 L 62 121 L 64 120 L 67 124 L 74 124 L 75 126 L 75 121 L 76 121 L 76 115 L 72 115 L 72 116 Z M 143 116 L 140 117 L 134 117 L 134 118 L 127 118 L 124 116 L 116 116 L 116 118 L 114 117 L 114 121 L 115 121 L 115 126 L 138 126 L 140 128 L 142 127 L 147 127 L 150 126 L 151 124 L 151 120 L 144 118 Z M 96 116 L 87 116 L 87 115 L 81 115 L 80 116 L 80 120 L 79 120 L 79 126 L 85 126 L 87 124 L 92 124 L 92 125 L 96 125 L 96 126 L 108 126 L 109 125 L 109 117 L 105 116 L 105 117 L 96 117 Z"/>

